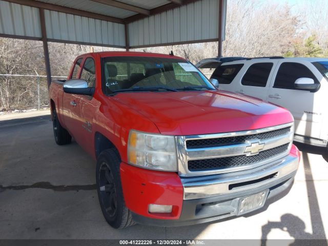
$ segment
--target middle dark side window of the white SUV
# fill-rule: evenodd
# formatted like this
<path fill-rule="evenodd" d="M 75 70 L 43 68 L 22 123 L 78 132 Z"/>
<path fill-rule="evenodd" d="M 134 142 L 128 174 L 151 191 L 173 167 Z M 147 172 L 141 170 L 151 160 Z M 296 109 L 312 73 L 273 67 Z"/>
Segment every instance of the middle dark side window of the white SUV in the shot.
<path fill-rule="evenodd" d="M 267 86 L 273 63 L 255 63 L 249 67 L 241 79 L 243 86 Z"/>

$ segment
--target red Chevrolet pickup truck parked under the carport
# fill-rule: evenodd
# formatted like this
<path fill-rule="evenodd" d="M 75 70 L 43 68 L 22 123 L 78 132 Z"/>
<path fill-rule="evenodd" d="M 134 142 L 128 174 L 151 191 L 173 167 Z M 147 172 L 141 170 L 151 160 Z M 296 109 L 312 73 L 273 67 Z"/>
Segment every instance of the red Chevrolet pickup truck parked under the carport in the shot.
<path fill-rule="evenodd" d="M 144 52 L 80 55 L 52 82 L 56 143 L 73 137 L 97 161 L 112 227 L 240 216 L 291 187 L 291 113 L 213 84 L 184 58 Z"/>

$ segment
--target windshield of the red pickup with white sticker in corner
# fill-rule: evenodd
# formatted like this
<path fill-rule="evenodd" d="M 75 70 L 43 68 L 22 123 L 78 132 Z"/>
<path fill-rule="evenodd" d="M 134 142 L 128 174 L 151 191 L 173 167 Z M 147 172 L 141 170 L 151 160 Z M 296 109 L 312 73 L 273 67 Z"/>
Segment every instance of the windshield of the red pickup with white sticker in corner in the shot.
<path fill-rule="evenodd" d="M 105 94 L 121 91 L 215 90 L 210 81 L 186 60 L 161 57 L 105 57 Z"/>

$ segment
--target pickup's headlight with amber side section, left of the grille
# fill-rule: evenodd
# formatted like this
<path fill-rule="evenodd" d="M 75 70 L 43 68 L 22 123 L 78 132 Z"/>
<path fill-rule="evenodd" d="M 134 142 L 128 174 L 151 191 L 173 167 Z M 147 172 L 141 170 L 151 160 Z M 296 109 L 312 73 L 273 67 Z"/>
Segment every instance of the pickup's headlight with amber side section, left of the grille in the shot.
<path fill-rule="evenodd" d="M 128 162 L 140 168 L 177 172 L 174 136 L 131 130 Z"/>

